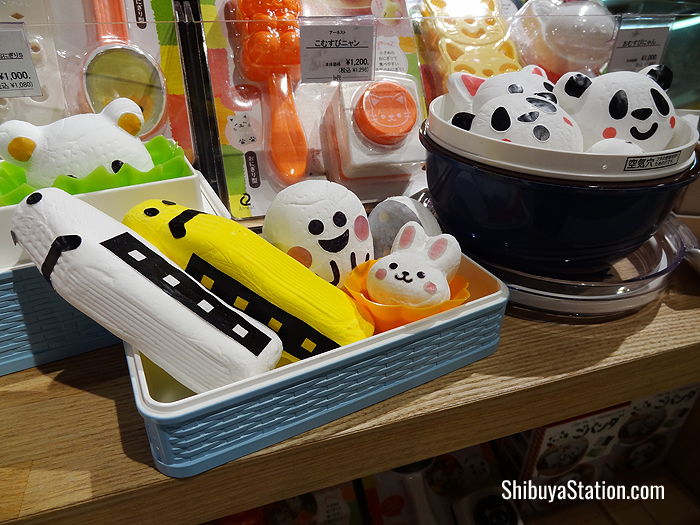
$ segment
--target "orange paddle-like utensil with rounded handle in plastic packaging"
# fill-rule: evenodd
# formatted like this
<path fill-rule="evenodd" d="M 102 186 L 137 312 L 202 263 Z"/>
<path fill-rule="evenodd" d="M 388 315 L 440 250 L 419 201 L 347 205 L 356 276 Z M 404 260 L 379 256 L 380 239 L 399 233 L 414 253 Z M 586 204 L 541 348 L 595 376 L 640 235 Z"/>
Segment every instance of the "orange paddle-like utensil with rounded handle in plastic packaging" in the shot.
<path fill-rule="evenodd" d="M 272 162 L 284 182 L 306 173 L 308 145 L 294 104 L 293 82 L 299 78 L 298 0 L 238 0 L 243 74 L 264 83 L 270 104 L 269 144 Z"/>

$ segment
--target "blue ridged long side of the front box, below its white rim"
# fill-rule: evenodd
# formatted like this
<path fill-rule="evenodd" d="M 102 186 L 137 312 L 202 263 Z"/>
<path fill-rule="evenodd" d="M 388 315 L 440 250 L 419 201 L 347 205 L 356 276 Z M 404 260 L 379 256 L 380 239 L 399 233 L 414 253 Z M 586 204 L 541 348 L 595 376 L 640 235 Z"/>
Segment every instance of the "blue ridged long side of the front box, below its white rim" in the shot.
<path fill-rule="evenodd" d="M 156 466 L 192 476 L 482 359 L 498 346 L 505 306 L 504 298 L 178 417 L 141 410 Z"/>

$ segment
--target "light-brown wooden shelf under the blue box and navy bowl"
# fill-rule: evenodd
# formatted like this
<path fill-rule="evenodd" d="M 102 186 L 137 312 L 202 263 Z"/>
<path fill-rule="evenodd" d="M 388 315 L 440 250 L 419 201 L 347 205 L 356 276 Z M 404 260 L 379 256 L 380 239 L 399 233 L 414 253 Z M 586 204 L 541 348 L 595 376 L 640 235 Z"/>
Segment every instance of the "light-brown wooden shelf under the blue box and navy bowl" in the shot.
<path fill-rule="evenodd" d="M 0 378 L 0 520 L 198 523 L 700 381 L 700 279 L 597 325 L 506 317 L 492 357 L 188 479 L 155 470 L 123 351 Z"/>

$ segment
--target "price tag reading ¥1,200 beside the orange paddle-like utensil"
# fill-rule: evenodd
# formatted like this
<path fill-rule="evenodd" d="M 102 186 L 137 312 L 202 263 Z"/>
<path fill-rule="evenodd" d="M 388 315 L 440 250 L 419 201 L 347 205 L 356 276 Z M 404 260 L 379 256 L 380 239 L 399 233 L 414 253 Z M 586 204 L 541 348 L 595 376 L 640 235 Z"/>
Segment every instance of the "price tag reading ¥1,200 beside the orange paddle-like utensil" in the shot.
<path fill-rule="evenodd" d="M 302 82 L 374 79 L 373 18 L 302 17 L 299 22 Z"/>

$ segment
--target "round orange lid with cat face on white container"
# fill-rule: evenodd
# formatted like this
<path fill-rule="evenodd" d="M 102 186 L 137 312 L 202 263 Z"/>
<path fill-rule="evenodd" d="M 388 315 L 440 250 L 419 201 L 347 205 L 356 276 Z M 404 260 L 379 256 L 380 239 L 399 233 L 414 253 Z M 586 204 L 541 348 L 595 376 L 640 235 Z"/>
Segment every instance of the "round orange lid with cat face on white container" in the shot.
<path fill-rule="evenodd" d="M 353 119 L 362 134 L 377 144 L 394 145 L 413 129 L 418 110 L 403 86 L 386 80 L 372 82 L 355 105 Z"/>

